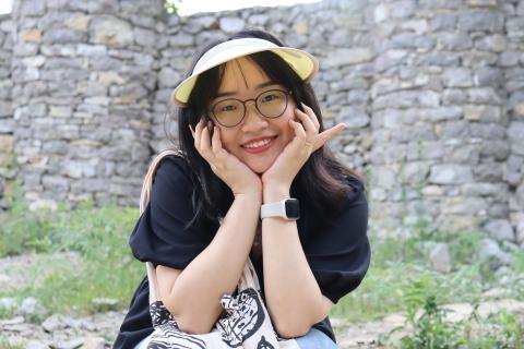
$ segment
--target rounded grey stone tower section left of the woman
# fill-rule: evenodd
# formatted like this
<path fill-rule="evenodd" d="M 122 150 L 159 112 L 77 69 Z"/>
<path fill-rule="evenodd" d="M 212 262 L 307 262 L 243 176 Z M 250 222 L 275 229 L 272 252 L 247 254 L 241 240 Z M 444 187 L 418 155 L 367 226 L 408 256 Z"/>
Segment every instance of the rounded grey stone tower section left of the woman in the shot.
<path fill-rule="evenodd" d="M 14 2 L 15 153 L 34 205 L 138 203 L 162 14 L 153 0 Z"/>

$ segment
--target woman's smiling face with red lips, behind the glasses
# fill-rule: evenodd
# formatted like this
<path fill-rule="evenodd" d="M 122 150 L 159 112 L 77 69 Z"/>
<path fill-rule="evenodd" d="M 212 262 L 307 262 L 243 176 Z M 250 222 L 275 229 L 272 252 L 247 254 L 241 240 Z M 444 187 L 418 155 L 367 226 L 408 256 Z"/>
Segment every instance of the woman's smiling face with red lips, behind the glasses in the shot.
<path fill-rule="evenodd" d="M 240 58 L 226 64 L 217 97 L 210 107 L 227 98 L 254 99 L 261 93 L 275 88 L 287 91 L 272 83 L 253 61 Z M 284 113 L 275 119 L 261 116 L 254 100 L 249 100 L 246 103 L 246 116 L 238 125 L 226 128 L 213 120 L 221 130 L 222 146 L 255 173 L 265 172 L 295 136 L 288 120 L 296 120 L 296 106 L 291 96 L 288 95 L 287 99 Z"/>

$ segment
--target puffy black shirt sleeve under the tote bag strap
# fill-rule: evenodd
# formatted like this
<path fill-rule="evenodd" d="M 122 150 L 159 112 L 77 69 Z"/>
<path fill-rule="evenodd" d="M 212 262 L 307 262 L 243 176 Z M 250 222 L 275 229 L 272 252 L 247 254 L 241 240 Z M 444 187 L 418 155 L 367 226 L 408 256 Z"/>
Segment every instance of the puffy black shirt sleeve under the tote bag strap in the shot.
<path fill-rule="evenodd" d="M 184 268 L 211 242 L 216 229 L 198 221 L 186 229 L 193 217 L 189 167 L 177 156 L 164 158 L 153 181 L 150 203 L 130 238 L 133 255 L 142 262 Z"/>

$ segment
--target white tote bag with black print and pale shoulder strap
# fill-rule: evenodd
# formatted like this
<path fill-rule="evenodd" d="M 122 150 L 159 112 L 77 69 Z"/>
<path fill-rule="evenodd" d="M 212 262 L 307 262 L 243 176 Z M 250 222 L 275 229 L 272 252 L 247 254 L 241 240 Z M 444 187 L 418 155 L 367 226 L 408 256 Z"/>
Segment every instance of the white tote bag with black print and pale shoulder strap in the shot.
<path fill-rule="evenodd" d="M 142 186 L 141 213 L 147 206 L 153 177 L 160 159 L 178 152 L 160 153 L 151 164 Z M 150 313 L 155 330 L 147 349 L 299 349 L 295 339 L 279 338 L 262 302 L 260 284 L 254 267 L 248 258 L 235 294 L 224 294 L 221 304 L 224 315 L 218 318 L 212 332 L 203 335 L 183 333 L 177 326 L 171 313 L 158 297 L 156 269 L 146 262 L 150 282 Z"/>

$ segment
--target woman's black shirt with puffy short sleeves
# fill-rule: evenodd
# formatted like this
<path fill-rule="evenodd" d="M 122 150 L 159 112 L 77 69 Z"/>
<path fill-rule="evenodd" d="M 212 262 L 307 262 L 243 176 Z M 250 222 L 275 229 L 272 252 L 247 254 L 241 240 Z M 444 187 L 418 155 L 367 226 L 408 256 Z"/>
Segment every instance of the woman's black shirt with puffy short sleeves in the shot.
<path fill-rule="evenodd" d="M 130 238 L 133 255 L 142 262 L 184 268 L 212 241 L 218 226 L 200 221 L 184 229 L 193 217 L 191 169 L 181 157 L 164 158 L 155 174 L 150 204 Z M 322 294 L 336 303 L 362 280 L 370 262 L 367 237 L 368 203 L 362 183 L 347 178 L 353 191 L 336 213 L 325 221 L 325 213 L 308 217 L 310 229 L 297 220 L 300 242 Z M 263 297 L 262 257 L 251 256 Z M 313 325 L 335 340 L 329 317 Z M 153 332 L 148 312 L 147 277 L 131 300 L 114 348 L 131 349 Z"/>

